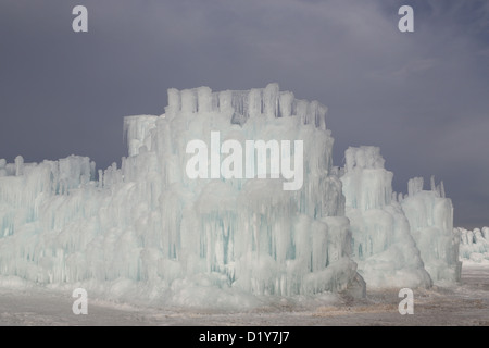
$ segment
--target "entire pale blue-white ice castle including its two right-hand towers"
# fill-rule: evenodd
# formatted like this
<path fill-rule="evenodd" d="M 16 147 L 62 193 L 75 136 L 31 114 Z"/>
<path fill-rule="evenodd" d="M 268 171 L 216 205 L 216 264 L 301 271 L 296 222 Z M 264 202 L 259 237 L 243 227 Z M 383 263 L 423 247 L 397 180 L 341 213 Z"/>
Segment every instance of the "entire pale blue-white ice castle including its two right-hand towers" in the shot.
<path fill-rule="evenodd" d="M 453 231 L 442 183 L 423 190 L 414 178 L 405 197 L 392 192 L 376 147 L 349 148 L 346 166 L 334 167 L 326 111 L 277 84 L 170 89 L 164 114 L 124 119 L 121 167 L 96 171 L 76 156 L 0 160 L 0 276 L 229 308 L 327 291 L 364 296 L 364 281 L 372 288 L 455 282 L 460 235 L 462 257 L 487 254 L 487 228 Z M 251 140 L 293 144 L 277 149 L 301 172 L 300 185 L 285 188 L 290 177 L 274 170 L 266 146 L 262 156 L 235 157 Z M 189 144 L 209 157 L 196 175 Z M 252 175 L 231 175 L 250 163 Z"/>

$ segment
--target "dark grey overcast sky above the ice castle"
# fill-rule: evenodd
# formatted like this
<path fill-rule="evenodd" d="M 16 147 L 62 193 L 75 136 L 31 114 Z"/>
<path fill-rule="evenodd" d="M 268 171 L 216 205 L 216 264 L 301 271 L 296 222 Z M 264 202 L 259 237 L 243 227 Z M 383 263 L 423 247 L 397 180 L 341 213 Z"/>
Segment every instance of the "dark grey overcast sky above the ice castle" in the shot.
<path fill-rule="evenodd" d="M 72 10 L 88 9 L 88 33 Z M 414 33 L 398 10 L 414 9 Z M 121 162 L 123 117 L 166 89 L 277 82 L 328 107 L 335 165 L 380 147 L 397 191 L 444 182 L 455 226 L 489 226 L 489 1 L 0 2 L 0 158 Z"/>

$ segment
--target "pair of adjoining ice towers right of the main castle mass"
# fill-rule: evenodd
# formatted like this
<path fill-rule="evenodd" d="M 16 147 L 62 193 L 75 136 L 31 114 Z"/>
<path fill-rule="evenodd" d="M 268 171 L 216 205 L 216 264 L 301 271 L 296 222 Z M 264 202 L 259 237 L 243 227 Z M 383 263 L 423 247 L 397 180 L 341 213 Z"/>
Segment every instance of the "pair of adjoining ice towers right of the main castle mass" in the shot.
<path fill-rule="evenodd" d="M 429 287 L 460 281 L 459 233 L 443 183 L 436 185 L 431 177 L 431 189 L 423 190 L 423 178 L 412 178 L 408 195 L 398 195 L 379 148 L 349 148 L 344 157 L 341 182 L 353 259 L 367 285 Z"/>

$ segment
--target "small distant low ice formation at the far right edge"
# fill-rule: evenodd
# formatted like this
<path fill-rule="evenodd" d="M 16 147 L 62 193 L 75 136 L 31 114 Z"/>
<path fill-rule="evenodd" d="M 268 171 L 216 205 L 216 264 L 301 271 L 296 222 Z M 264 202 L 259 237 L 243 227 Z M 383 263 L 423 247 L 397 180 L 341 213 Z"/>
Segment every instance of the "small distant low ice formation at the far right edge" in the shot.
<path fill-rule="evenodd" d="M 462 227 L 454 228 L 460 234 L 460 259 L 463 262 L 489 262 L 489 227 L 468 231 Z"/>

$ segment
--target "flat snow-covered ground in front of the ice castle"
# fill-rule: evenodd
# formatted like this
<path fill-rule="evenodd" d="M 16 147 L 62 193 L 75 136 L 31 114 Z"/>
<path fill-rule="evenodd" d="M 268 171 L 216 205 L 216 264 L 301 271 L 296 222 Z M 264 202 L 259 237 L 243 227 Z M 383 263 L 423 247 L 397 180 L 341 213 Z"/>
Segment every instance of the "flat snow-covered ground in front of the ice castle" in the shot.
<path fill-rule="evenodd" d="M 455 286 L 414 289 L 414 314 L 401 315 L 399 289 L 367 298 L 328 297 L 277 302 L 247 312 L 160 309 L 88 298 L 88 314 L 75 315 L 72 294 L 0 288 L 0 325 L 489 325 L 489 265 L 464 263 Z"/>

